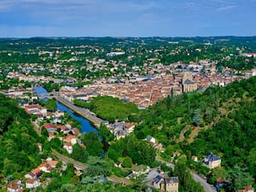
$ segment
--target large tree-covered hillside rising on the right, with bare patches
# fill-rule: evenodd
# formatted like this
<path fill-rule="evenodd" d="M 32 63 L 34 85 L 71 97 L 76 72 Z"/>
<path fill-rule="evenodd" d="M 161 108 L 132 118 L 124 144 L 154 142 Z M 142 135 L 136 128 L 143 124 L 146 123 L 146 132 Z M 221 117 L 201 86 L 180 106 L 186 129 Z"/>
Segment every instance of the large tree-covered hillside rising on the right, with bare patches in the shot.
<path fill-rule="evenodd" d="M 241 166 L 256 177 L 256 77 L 225 87 L 169 96 L 138 117 L 135 134 L 151 135 L 167 148 L 191 158 L 215 153 L 227 169 Z M 198 136 L 194 131 L 199 131 Z M 183 134 L 181 134 L 183 133 Z M 179 137 L 183 135 L 183 139 Z M 191 138 L 195 137 L 195 139 Z"/>

